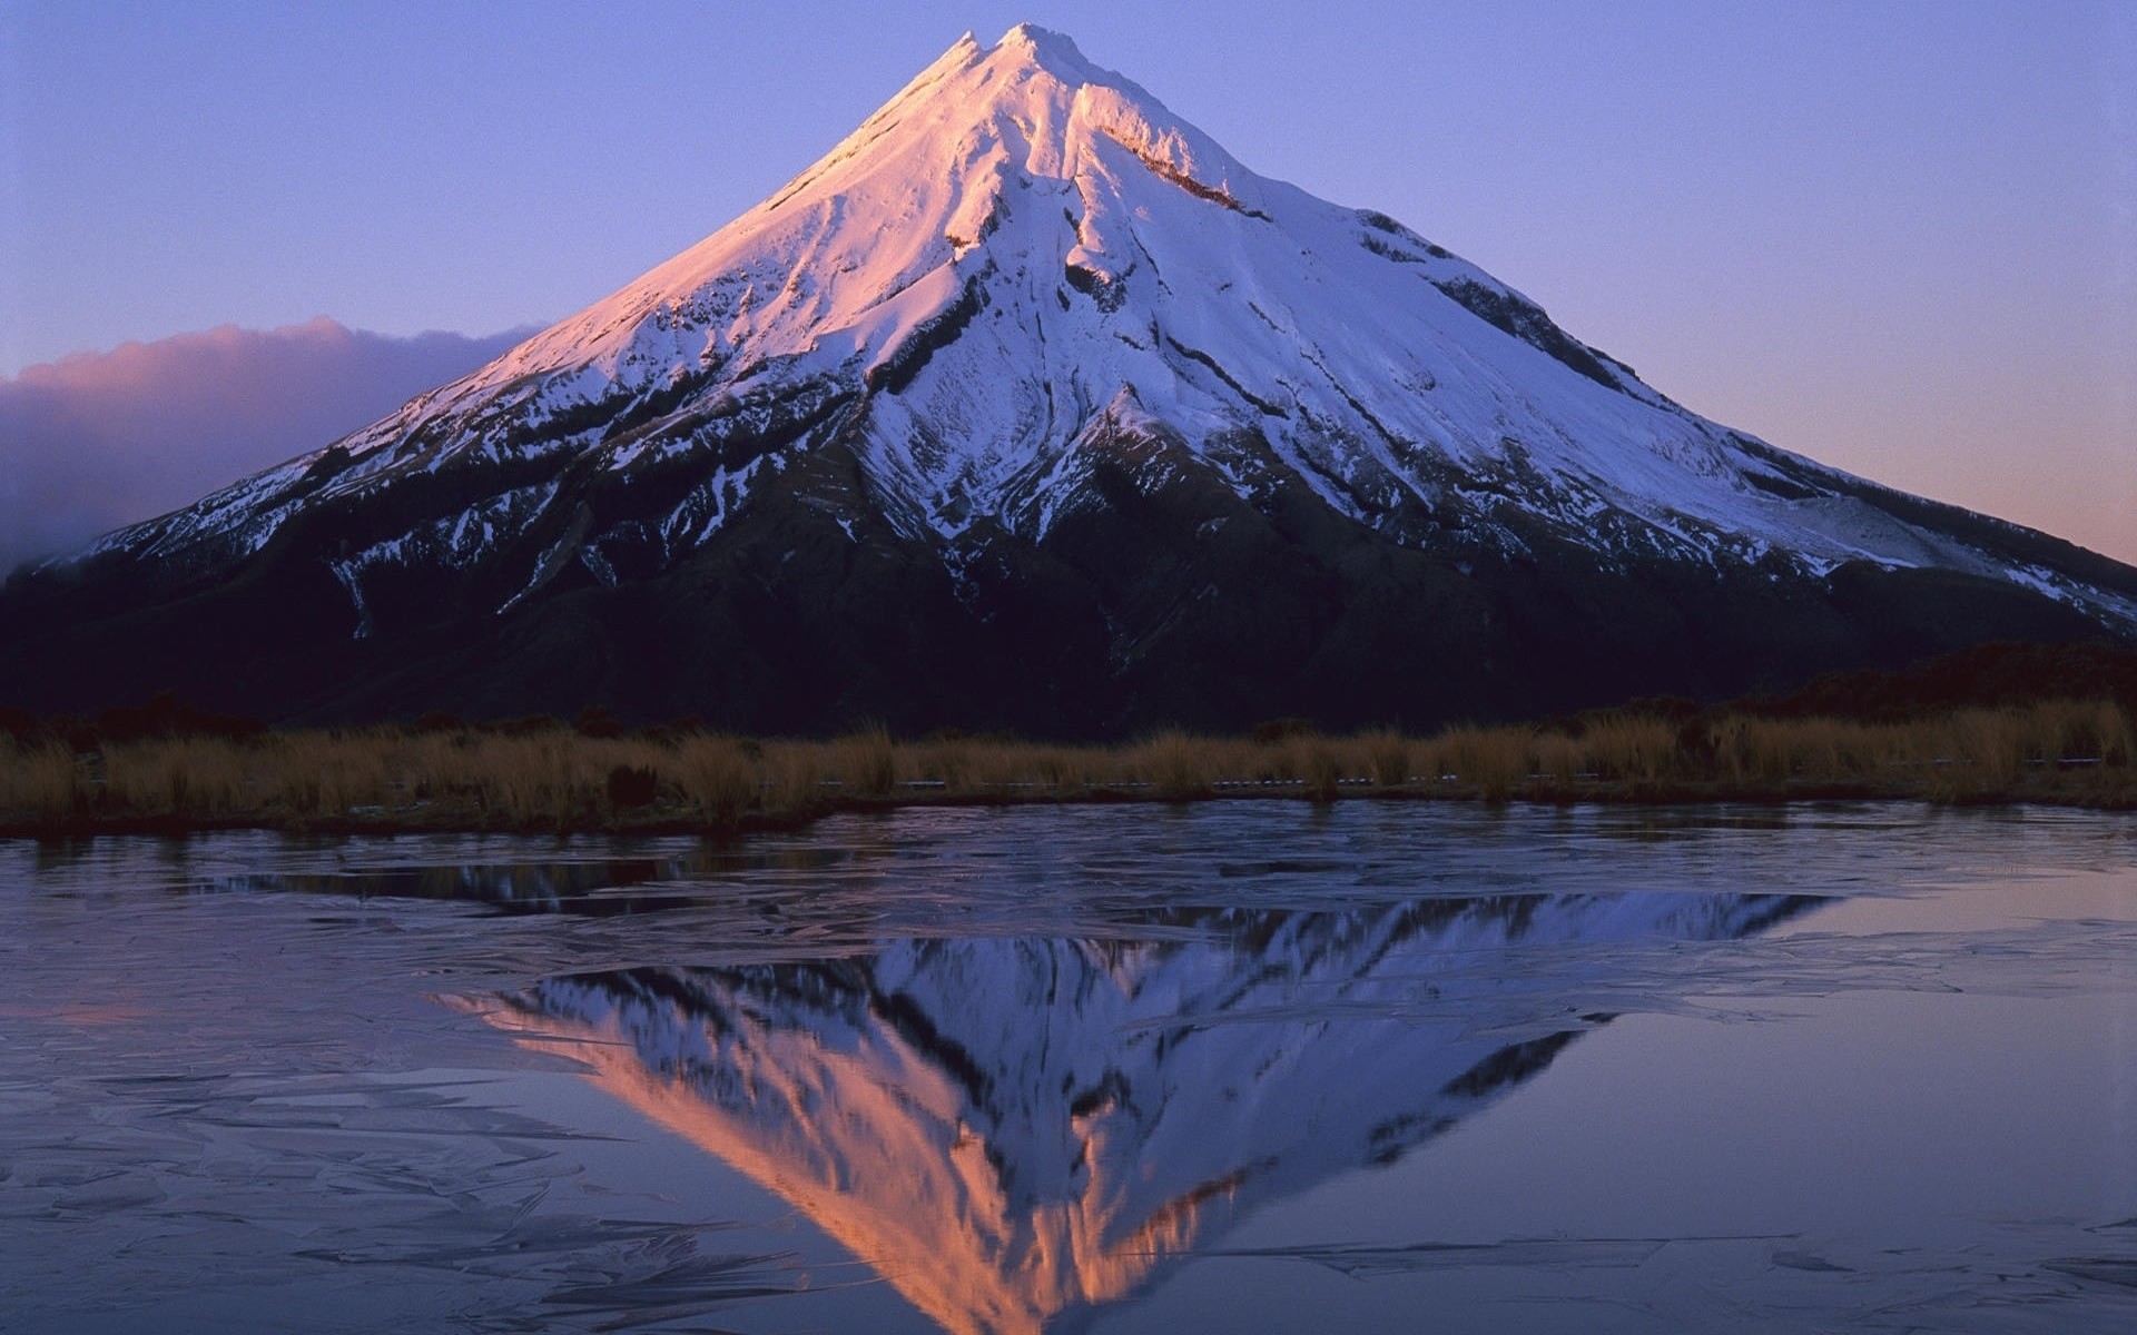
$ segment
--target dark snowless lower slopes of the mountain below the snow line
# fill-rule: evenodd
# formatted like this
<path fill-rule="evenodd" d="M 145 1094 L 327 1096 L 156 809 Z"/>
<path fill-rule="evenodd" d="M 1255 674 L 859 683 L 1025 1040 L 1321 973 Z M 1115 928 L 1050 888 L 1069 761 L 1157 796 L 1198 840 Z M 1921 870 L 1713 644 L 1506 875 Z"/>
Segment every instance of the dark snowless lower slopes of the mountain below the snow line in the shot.
<path fill-rule="evenodd" d="M 1547 534 L 1522 557 L 1398 545 L 1304 485 L 1250 504 L 1154 468 L 1165 440 L 1098 444 L 1094 500 L 1041 540 L 987 525 L 949 549 L 810 504 L 833 483 L 865 493 L 853 453 L 818 446 L 686 560 L 613 583 L 553 555 L 628 523 L 598 487 L 489 562 L 370 581 L 361 611 L 318 555 L 353 545 L 361 506 L 303 515 L 233 575 L 47 570 L 9 592 L 0 694 L 77 707 L 175 686 L 310 718 L 605 701 L 750 731 L 1425 726 L 2101 632 L 2026 587 L 1934 568 L 1609 568 Z"/>

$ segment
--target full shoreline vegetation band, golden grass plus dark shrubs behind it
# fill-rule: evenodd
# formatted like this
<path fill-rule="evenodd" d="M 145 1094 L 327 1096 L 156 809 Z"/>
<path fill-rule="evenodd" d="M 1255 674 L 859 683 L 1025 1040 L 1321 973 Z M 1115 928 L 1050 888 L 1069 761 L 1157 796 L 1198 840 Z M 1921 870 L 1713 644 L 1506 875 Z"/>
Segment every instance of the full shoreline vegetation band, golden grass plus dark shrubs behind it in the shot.
<path fill-rule="evenodd" d="M 742 829 L 923 803 L 1344 797 L 1787 801 L 1889 797 L 2137 810 L 2137 654 L 1987 647 L 1787 698 L 1637 701 L 1537 724 L 1058 745 L 626 728 L 605 709 L 271 731 L 171 696 L 96 718 L 0 711 L 0 833 Z"/>

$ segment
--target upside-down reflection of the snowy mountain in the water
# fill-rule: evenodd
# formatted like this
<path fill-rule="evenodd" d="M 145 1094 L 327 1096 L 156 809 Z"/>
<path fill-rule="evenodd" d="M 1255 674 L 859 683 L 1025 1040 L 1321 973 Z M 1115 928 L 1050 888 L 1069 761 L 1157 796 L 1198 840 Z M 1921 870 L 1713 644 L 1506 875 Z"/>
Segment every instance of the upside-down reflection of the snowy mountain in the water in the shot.
<path fill-rule="evenodd" d="M 947 1329 L 1039 1331 L 1250 1203 L 1393 1160 L 1543 1070 L 1607 1019 L 1581 998 L 1611 993 L 1624 946 L 1740 938 L 1810 904 L 1167 914 L 1163 942 L 904 940 L 564 976 L 492 1021 L 560 1038 Z"/>

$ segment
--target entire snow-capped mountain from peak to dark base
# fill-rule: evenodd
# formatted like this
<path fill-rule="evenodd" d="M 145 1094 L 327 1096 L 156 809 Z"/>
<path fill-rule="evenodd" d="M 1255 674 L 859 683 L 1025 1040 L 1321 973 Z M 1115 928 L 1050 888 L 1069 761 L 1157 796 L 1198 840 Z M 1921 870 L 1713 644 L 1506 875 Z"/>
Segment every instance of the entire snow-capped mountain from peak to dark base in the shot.
<path fill-rule="evenodd" d="M 2137 570 L 1705 421 L 1019 26 L 472 376 L 19 575 L 0 696 L 1094 735 L 2088 634 Z"/>

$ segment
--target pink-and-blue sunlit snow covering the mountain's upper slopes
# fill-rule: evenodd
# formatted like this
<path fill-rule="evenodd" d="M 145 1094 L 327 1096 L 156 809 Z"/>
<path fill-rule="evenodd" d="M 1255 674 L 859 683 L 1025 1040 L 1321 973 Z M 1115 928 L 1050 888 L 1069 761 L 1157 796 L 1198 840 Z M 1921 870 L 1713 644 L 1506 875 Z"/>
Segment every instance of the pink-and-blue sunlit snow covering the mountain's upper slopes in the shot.
<path fill-rule="evenodd" d="M 361 613 L 365 570 L 472 562 L 577 504 L 534 493 L 536 459 L 624 478 L 695 459 L 699 485 L 630 525 L 673 562 L 833 434 L 908 538 L 955 549 L 981 519 L 1045 538 L 1083 504 L 1079 444 L 1124 421 L 1242 498 L 1297 478 L 1406 545 L 1457 523 L 1519 553 L 1519 513 L 1605 562 L 1940 566 L 2137 622 L 1686 412 L 1475 265 L 1254 175 L 1030 26 L 960 38 L 771 199 L 481 372 L 103 549 L 229 562 L 303 506 L 496 472 L 338 557 Z M 596 575 L 607 536 L 575 536 Z"/>

